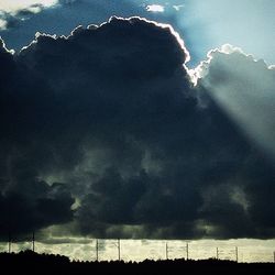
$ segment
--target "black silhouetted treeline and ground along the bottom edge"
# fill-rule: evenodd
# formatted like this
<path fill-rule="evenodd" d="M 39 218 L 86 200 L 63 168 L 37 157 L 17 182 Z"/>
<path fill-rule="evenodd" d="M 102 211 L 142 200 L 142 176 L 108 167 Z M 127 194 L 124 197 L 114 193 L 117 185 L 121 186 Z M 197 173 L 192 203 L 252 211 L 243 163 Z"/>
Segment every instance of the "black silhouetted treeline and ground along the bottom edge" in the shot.
<path fill-rule="evenodd" d="M 235 263 L 231 261 L 144 261 L 124 262 L 70 262 L 65 256 L 0 253 L 1 274 L 275 274 L 273 263 Z"/>

